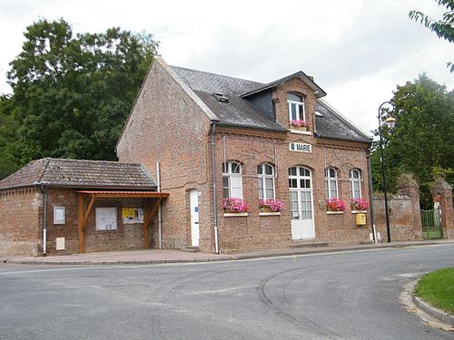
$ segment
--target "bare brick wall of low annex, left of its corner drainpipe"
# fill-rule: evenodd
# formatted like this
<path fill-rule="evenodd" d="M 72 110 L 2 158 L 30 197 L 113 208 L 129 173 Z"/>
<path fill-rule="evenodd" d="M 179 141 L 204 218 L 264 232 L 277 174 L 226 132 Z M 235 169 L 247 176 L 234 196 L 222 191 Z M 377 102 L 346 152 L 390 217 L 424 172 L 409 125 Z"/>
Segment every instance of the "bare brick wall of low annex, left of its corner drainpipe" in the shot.
<path fill-rule="evenodd" d="M 42 208 L 39 189 L 0 191 L 0 256 L 41 253 Z"/>

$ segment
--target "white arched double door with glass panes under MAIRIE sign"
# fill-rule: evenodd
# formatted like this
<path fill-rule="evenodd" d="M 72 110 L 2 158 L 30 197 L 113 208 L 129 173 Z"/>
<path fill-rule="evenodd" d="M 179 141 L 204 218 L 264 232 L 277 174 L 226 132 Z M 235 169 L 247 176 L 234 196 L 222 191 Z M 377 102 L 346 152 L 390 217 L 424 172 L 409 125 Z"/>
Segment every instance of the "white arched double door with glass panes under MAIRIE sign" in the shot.
<path fill-rule="evenodd" d="M 289 170 L 291 238 L 315 238 L 311 170 L 295 167 Z"/>

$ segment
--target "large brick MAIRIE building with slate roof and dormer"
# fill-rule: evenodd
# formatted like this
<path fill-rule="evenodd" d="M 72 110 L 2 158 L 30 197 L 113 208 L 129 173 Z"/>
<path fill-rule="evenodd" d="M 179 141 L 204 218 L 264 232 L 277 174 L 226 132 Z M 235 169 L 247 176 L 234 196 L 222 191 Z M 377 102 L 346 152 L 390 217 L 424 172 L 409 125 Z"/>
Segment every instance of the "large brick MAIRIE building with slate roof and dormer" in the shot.
<path fill-rule="evenodd" d="M 350 198 L 369 200 L 370 138 L 325 95 L 302 72 L 264 84 L 156 58 L 116 150 L 170 194 L 152 244 L 222 252 L 369 240 Z M 232 197 L 247 211 L 222 209 Z M 329 211 L 327 198 L 347 208 Z M 260 199 L 283 208 L 261 211 Z"/>

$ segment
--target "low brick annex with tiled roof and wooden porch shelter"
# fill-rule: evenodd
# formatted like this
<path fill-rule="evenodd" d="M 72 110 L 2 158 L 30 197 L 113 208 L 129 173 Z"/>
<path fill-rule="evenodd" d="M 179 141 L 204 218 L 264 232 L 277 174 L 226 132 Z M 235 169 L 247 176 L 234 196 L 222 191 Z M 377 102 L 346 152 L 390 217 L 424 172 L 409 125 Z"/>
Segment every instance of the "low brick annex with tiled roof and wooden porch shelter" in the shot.
<path fill-rule="evenodd" d="M 149 248 L 167 196 L 141 164 L 34 160 L 0 181 L 0 255 Z"/>

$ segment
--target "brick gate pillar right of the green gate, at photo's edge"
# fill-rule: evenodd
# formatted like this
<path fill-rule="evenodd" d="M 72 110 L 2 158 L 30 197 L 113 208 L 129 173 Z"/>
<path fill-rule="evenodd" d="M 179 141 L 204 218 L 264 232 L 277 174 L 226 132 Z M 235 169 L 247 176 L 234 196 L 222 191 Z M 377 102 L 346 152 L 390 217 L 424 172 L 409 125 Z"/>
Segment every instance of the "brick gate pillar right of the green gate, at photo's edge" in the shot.
<path fill-rule="evenodd" d="M 430 189 L 434 202 L 439 202 L 443 238 L 454 238 L 454 209 L 452 208 L 452 188 L 446 180 L 437 178 Z"/>

